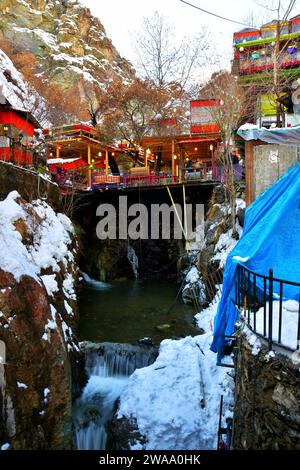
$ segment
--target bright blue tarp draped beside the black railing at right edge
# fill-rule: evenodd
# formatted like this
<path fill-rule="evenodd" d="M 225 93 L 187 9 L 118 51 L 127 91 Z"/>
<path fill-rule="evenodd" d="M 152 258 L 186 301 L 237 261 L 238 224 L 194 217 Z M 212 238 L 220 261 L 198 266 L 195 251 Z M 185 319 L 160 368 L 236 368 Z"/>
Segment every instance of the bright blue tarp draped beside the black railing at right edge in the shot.
<path fill-rule="evenodd" d="M 226 260 L 222 298 L 215 317 L 212 351 L 222 358 L 225 336 L 233 334 L 238 310 L 235 306 L 237 265 L 259 274 L 287 281 L 300 280 L 300 163 L 292 167 L 246 210 L 243 235 Z M 277 289 L 277 290 L 276 290 Z M 278 294 L 278 283 L 274 294 Z M 290 287 L 284 296 L 298 299 L 299 289 Z"/>

